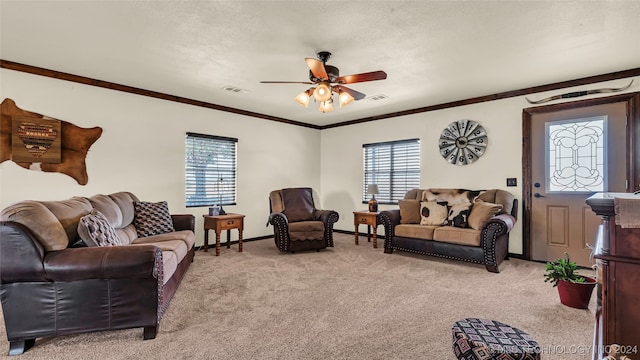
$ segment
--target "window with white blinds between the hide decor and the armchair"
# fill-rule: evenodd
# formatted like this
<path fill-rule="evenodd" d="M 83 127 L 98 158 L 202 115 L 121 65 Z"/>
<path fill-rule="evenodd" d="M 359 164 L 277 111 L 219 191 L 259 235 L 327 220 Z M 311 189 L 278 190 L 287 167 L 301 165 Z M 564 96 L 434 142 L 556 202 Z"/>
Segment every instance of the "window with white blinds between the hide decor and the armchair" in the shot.
<path fill-rule="evenodd" d="M 185 202 L 187 207 L 235 205 L 238 139 L 187 133 Z"/>

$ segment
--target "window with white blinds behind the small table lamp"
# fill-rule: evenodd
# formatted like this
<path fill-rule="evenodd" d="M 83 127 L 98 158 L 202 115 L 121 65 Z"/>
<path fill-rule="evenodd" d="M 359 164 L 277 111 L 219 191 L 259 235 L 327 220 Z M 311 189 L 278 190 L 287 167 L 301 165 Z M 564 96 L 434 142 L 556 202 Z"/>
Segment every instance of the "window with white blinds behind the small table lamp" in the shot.
<path fill-rule="evenodd" d="M 380 204 L 397 204 L 407 191 L 420 187 L 420 140 L 409 139 L 362 145 L 364 181 L 362 202 L 369 184 L 377 184 Z"/>

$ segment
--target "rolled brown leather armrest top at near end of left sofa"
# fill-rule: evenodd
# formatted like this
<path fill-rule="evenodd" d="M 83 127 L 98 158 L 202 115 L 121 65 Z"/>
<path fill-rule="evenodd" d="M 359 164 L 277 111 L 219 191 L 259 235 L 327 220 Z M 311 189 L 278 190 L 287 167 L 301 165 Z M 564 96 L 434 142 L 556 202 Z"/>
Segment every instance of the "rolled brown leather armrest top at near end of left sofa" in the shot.
<path fill-rule="evenodd" d="M 151 244 L 67 248 L 47 253 L 44 271 L 51 281 L 158 279 L 162 251 Z"/>

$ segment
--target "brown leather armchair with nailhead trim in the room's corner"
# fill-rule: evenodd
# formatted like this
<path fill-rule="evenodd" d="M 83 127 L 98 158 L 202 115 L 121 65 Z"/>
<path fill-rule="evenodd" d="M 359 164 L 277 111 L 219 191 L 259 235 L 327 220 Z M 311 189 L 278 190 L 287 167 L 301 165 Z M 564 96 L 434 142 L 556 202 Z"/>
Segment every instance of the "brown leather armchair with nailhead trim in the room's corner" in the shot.
<path fill-rule="evenodd" d="M 333 247 L 333 224 L 338 221 L 338 213 L 316 209 L 311 188 L 274 190 L 269 204 L 269 223 L 280 251 Z"/>

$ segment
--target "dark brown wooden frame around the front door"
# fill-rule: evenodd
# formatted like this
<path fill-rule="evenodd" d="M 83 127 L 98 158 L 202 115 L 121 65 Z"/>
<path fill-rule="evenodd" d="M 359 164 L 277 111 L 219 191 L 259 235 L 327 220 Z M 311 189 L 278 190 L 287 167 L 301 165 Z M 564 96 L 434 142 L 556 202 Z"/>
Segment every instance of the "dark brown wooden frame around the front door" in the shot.
<path fill-rule="evenodd" d="M 629 191 L 640 190 L 640 92 L 571 101 L 522 110 L 522 257 L 531 260 L 531 118 L 535 114 L 625 102 L 627 106 L 627 179 Z"/>

